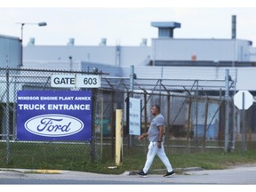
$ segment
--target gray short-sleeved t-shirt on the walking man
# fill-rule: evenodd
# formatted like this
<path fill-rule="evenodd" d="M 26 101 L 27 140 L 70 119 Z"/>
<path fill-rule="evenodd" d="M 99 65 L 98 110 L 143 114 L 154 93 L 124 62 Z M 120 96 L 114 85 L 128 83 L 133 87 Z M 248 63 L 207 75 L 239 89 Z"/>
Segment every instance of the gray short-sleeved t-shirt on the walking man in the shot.
<path fill-rule="evenodd" d="M 158 141 L 158 134 L 159 128 L 157 126 L 163 125 L 164 126 L 164 116 L 162 114 L 158 114 L 155 118 L 151 121 L 151 124 L 148 129 L 148 140 L 149 141 Z M 164 138 L 162 138 L 164 141 Z"/>

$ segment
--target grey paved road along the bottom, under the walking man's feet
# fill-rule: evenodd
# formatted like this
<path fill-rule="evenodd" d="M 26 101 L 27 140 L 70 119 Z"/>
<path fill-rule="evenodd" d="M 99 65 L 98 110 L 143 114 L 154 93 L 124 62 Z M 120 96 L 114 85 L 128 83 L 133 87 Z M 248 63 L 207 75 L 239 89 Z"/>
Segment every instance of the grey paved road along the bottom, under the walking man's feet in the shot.
<path fill-rule="evenodd" d="M 131 172 L 120 175 L 98 174 L 92 172 L 71 172 L 41 170 L 0 169 L 0 184 L 59 184 L 59 185 L 255 185 L 256 164 L 237 166 L 225 170 L 187 169 L 172 178 L 148 174 L 140 178 Z"/>

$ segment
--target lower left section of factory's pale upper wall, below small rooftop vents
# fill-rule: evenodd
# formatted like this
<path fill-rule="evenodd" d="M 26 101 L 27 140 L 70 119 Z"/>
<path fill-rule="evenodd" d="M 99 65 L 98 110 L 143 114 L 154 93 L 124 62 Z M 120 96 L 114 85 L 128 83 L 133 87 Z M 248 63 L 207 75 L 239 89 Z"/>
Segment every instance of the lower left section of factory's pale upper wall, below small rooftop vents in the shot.
<path fill-rule="evenodd" d="M 119 48 L 119 53 L 116 51 Z M 148 46 L 37 46 L 24 47 L 24 61 L 81 60 L 114 66 L 141 65 L 149 61 Z M 44 52 L 44 53 L 43 53 Z M 118 58 L 119 57 L 119 58 Z"/>

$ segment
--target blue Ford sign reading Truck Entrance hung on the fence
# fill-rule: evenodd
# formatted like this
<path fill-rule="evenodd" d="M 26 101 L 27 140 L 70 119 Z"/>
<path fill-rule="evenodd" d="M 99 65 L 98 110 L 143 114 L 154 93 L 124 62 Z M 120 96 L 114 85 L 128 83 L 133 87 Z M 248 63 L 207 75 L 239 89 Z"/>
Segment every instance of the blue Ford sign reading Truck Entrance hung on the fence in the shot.
<path fill-rule="evenodd" d="M 91 140 L 92 92 L 18 92 L 17 139 Z"/>

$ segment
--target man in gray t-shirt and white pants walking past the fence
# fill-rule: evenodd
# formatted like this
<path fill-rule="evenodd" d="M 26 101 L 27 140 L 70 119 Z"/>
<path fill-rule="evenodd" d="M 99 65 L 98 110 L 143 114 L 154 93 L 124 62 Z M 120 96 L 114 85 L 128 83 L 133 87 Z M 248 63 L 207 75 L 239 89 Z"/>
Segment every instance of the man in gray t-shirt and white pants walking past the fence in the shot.
<path fill-rule="evenodd" d="M 175 175 L 175 172 L 173 172 L 172 164 L 164 152 L 164 116 L 160 114 L 160 107 L 158 105 L 154 105 L 151 108 L 151 114 L 155 117 L 150 124 L 148 132 L 143 133 L 139 137 L 140 141 L 144 138 L 148 138 L 149 145 L 147 161 L 143 170 L 141 172 L 137 172 L 137 175 L 140 177 L 148 177 L 147 172 L 153 163 L 155 156 L 157 155 L 167 169 L 164 177 L 172 177 Z"/>

